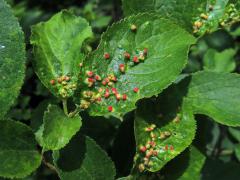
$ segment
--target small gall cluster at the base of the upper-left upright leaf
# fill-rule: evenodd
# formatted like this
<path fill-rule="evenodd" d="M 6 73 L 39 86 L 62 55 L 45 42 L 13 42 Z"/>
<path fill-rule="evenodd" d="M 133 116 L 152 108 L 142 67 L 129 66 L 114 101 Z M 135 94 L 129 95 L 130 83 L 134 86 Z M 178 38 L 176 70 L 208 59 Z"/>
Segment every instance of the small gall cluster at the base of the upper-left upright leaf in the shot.
<path fill-rule="evenodd" d="M 74 91 L 77 88 L 76 83 L 72 82 L 72 79 L 70 76 L 60 76 L 56 79 L 50 80 L 50 84 L 54 87 L 56 87 L 56 90 L 58 91 L 58 94 L 62 98 L 68 98 L 73 96 Z"/>

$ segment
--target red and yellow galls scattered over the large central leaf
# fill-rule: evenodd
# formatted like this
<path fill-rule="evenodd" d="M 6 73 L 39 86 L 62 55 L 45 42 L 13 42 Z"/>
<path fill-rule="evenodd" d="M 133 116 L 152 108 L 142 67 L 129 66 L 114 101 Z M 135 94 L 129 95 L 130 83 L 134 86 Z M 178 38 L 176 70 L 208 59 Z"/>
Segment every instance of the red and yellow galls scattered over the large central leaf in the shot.
<path fill-rule="evenodd" d="M 131 27 L 132 31 L 136 31 L 136 27 Z M 125 63 L 118 64 L 118 75 L 125 74 L 128 65 L 135 66 L 144 60 L 147 57 L 148 49 L 144 48 L 142 51 L 136 51 L 137 53 L 131 55 L 129 52 L 124 52 L 122 54 Z M 103 54 L 103 58 L 105 60 L 109 60 L 111 55 L 108 52 Z M 105 99 L 110 98 L 111 96 L 115 97 L 116 102 L 126 101 L 128 99 L 128 95 L 126 93 L 120 93 L 116 88 L 116 83 L 118 82 L 118 77 L 115 74 L 108 74 L 105 77 L 101 77 L 94 71 L 87 70 L 85 72 L 86 79 L 84 83 L 87 85 L 89 90 L 83 91 L 82 97 L 83 100 L 80 102 L 80 108 L 87 109 L 91 105 L 91 103 L 101 104 L 101 102 Z M 134 93 L 139 92 L 138 87 L 134 87 L 132 89 Z M 108 106 L 107 111 L 114 111 L 113 106 Z"/>

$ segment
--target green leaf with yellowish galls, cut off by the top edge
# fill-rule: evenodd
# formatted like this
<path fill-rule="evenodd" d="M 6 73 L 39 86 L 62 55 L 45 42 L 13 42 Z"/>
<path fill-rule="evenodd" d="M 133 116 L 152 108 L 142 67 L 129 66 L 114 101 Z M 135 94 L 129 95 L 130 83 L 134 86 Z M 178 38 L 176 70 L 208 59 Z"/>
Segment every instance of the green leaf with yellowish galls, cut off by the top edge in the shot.
<path fill-rule="evenodd" d="M 239 7 L 229 0 L 122 0 L 125 15 L 156 12 L 174 20 L 189 32 L 203 35 L 219 28 L 228 28 L 240 20 Z"/>

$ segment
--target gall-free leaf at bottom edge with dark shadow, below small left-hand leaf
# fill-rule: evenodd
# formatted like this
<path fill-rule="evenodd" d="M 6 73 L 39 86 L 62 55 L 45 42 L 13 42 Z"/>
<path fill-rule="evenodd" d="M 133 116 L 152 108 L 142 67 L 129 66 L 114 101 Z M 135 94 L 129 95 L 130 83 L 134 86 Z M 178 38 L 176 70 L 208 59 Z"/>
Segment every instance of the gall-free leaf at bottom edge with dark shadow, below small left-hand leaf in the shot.
<path fill-rule="evenodd" d="M 54 164 L 62 180 L 113 180 L 113 162 L 91 138 L 77 134 L 70 143 L 54 151 Z"/>

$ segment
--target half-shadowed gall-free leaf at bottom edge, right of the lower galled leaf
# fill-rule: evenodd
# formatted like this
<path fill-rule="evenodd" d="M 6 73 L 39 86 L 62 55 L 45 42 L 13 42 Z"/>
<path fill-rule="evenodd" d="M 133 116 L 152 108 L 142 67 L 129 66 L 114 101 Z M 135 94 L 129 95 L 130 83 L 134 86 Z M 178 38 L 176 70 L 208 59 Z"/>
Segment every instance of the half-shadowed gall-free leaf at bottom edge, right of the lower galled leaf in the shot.
<path fill-rule="evenodd" d="M 193 177 L 200 179 L 205 160 L 206 157 L 196 147 L 191 146 L 167 164 L 164 177 L 168 180 L 189 180 Z"/>

